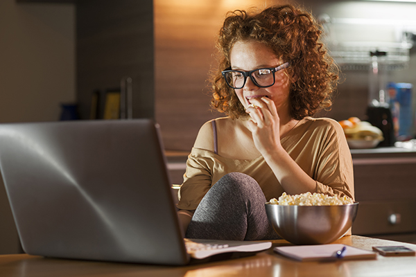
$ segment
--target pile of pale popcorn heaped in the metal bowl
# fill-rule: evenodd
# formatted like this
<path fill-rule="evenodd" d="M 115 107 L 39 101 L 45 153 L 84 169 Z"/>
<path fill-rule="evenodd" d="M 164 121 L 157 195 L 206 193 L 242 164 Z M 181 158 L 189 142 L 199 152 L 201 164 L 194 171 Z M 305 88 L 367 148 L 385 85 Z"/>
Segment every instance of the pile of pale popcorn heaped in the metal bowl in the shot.
<path fill-rule="evenodd" d="M 282 193 L 279 200 L 276 198 L 270 199 L 270 204 L 277 205 L 297 205 L 297 206 L 333 206 L 333 205 L 345 205 L 354 204 L 354 201 L 344 195 L 338 197 L 338 195 L 329 196 L 323 193 L 302 193 L 300 195 L 288 195 Z"/>

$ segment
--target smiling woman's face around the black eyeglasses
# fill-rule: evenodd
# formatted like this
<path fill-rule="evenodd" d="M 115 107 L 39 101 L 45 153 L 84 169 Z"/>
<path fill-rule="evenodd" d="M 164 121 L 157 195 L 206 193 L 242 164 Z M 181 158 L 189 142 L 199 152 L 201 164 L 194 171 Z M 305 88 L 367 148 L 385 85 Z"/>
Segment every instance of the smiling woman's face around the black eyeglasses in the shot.
<path fill-rule="evenodd" d="M 254 40 L 236 42 L 231 49 L 229 60 L 233 70 L 241 71 L 277 67 L 286 62 L 279 59 L 268 46 Z M 286 69 L 282 69 L 275 72 L 275 84 L 272 87 L 257 87 L 247 78 L 244 87 L 235 91 L 245 109 L 253 98 L 266 96 L 275 102 L 277 112 L 282 115 L 281 113 L 289 112 L 289 84 Z"/>

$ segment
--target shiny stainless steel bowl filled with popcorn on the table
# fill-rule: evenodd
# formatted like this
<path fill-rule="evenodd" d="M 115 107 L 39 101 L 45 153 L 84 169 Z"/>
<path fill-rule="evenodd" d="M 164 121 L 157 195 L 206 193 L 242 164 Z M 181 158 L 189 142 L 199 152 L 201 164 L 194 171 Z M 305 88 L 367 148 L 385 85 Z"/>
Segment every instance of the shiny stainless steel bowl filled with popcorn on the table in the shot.
<path fill-rule="evenodd" d="M 338 240 L 352 226 L 358 202 L 334 206 L 283 206 L 267 202 L 273 229 L 293 244 L 327 244 Z"/>

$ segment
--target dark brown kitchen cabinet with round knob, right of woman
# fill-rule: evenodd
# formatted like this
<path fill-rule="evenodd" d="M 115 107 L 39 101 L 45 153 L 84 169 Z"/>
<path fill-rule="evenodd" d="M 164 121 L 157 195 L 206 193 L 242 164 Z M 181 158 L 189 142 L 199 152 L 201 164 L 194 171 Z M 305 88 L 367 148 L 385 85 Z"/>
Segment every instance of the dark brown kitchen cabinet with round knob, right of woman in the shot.
<path fill-rule="evenodd" d="M 360 202 L 353 233 L 416 242 L 416 149 L 351 152 Z"/>

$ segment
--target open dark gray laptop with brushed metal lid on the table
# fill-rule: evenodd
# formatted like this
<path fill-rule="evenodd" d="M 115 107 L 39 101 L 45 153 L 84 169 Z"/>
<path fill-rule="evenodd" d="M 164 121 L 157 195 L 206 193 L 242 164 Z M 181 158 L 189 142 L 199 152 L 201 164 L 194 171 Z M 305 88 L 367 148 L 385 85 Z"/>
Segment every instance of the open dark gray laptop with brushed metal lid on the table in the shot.
<path fill-rule="evenodd" d="M 24 251 L 187 265 L 271 247 L 184 240 L 163 149 L 149 119 L 0 124 L 0 169 Z"/>

